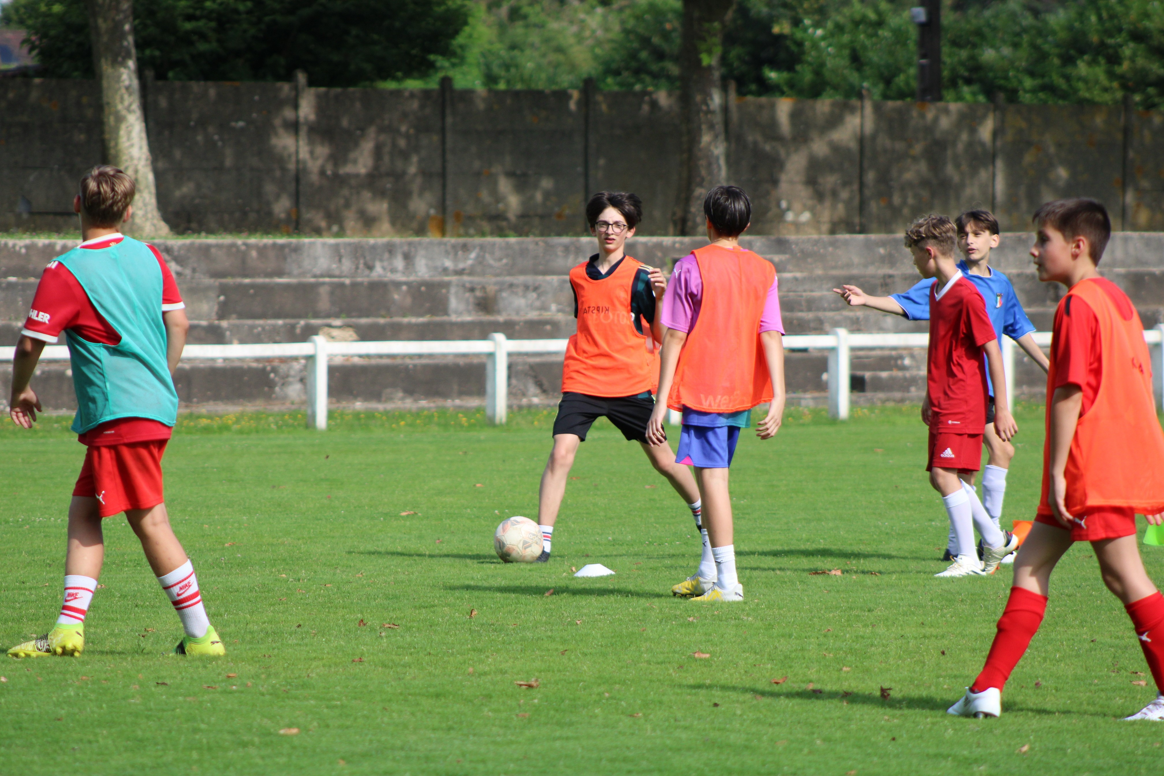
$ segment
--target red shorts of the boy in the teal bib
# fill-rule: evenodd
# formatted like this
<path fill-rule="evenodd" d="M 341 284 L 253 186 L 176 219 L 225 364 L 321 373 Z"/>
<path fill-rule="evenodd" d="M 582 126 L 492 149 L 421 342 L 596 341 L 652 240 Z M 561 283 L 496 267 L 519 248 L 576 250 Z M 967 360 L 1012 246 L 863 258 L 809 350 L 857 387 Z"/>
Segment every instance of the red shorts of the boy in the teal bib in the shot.
<path fill-rule="evenodd" d="M 73 496 L 95 498 L 102 518 L 148 510 L 162 497 L 162 455 L 169 440 L 91 447 Z"/>

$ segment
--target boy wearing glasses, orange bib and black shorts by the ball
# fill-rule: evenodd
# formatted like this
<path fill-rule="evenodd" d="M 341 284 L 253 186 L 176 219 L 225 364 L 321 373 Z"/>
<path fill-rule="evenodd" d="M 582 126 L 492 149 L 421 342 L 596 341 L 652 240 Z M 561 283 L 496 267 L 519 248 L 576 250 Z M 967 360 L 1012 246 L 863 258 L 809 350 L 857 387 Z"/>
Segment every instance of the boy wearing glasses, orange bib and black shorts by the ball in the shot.
<path fill-rule="evenodd" d="M 660 270 L 625 252 L 626 239 L 643 218 L 643 200 L 627 192 L 601 191 L 587 202 L 585 218 L 590 234 L 598 240 L 598 252 L 572 269 L 569 276 L 577 334 L 566 347 L 554 448 L 538 493 L 539 563 L 549 560 L 558 510 L 579 444 L 603 415 L 627 441 L 643 447 L 655 470 L 683 497 L 696 526 L 702 527 L 700 491 L 691 472 L 675 463 L 666 440 L 651 444 L 646 437 L 659 378 L 658 343 L 662 342 L 656 309 L 667 280 Z M 703 543 L 710 558 L 705 532 Z"/>

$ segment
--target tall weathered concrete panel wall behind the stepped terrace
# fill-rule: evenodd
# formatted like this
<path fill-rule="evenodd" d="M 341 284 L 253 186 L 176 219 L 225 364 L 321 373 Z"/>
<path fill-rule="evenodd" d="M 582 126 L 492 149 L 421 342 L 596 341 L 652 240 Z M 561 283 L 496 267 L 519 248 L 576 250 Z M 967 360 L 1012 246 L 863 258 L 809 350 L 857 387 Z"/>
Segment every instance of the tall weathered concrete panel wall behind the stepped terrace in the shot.
<path fill-rule="evenodd" d="M 631 190 L 672 233 L 679 105 L 667 92 L 308 88 L 149 81 L 161 207 L 178 232 L 584 234 L 590 192 Z M 1048 199 L 1164 229 L 1164 115 L 1113 106 L 728 100 L 730 178 L 758 235 L 892 234 Z M 0 81 L 0 229 L 65 229 L 101 158 L 91 81 Z"/>

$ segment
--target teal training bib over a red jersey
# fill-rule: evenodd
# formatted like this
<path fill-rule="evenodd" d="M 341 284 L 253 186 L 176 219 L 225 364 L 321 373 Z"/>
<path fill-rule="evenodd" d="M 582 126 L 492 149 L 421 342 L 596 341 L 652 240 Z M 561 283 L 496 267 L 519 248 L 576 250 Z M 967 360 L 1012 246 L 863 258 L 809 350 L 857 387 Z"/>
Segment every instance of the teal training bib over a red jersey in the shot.
<path fill-rule="evenodd" d="M 148 418 L 173 426 L 178 393 L 165 359 L 157 257 L 144 243 L 126 237 L 99 250 L 74 248 L 57 261 L 121 335 L 118 344 L 101 344 L 65 332 L 77 391 L 72 430 L 84 434 L 118 418 Z"/>

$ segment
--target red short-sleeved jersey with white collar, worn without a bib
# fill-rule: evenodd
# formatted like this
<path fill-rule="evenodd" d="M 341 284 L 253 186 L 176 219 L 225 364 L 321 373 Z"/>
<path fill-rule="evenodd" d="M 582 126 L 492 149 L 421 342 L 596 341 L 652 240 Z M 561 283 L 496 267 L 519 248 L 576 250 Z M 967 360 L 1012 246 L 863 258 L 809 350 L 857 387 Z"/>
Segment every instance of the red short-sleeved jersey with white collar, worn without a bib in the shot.
<path fill-rule="evenodd" d="M 930 428 L 944 434 L 981 434 L 986 428 L 986 364 L 982 346 L 995 340 L 986 302 L 958 272 L 930 290 L 927 387 Z"/>

